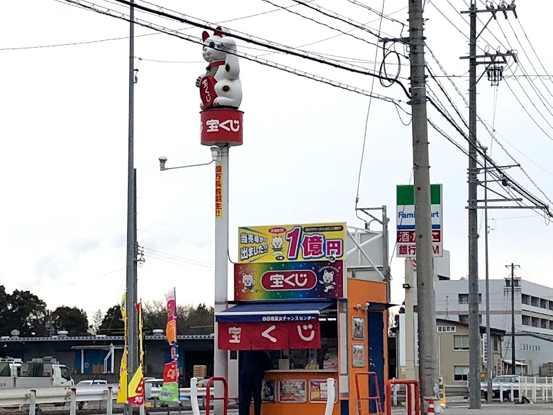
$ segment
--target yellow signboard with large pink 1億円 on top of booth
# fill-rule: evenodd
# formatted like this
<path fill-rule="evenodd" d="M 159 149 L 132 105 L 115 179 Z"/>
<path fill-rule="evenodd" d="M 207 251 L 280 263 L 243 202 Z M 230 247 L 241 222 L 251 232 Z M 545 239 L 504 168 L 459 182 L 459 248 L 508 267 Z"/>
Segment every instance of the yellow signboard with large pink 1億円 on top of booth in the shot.
<path fill-rule="evenodd" d="M 238 228 L 238 262 L 339 261 L 346 258 L 346 223 Z"/>

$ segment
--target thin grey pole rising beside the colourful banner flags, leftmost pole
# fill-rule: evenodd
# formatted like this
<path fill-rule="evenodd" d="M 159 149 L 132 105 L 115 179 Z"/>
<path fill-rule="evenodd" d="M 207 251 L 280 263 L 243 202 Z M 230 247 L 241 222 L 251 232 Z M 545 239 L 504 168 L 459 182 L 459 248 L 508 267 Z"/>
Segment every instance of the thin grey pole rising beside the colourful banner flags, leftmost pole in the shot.
<path fill-rule="evenodd" d="M 130 5 L 129 26 L 129 161 L 127 172 L 126 205 L 126 316 L 127 316 L 127 388 L 137 369 L 138 358 L 138 313 L 136 284 L 136 219 L 135 219 L 135 169 L 134 169 L 134 1 Z M 126 414 L 132 408 L 125 405 Z"/>

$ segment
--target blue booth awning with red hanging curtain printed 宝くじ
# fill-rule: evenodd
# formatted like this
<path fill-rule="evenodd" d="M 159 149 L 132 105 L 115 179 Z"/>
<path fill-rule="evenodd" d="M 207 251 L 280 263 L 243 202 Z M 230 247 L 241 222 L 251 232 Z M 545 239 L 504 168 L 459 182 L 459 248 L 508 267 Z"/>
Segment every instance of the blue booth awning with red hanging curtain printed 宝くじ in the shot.
<path fill-rule="evenodd" d="M 215 316 L 223 350 L 320 349 L 319 314 L 332 302 L 240 304 Z"/>

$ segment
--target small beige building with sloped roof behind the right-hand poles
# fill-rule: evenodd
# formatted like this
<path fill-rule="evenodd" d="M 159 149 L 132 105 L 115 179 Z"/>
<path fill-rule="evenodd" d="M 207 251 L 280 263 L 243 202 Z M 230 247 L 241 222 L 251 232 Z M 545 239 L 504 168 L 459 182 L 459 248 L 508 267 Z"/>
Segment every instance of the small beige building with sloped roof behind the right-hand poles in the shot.
<path fill-rule="evenodd" d="M 469 325 L 453 320 L 436 320 L 440 375 L 446 388 L 466 388 L 469 381 Z M 492 375 L 502 372 L 502 350 L 504 330 L 491 329 L 491 342 L 485 341 L 486 327 L 480 326 L 480 367 L 485 372 L 485 347 L 491 347 Z"/>

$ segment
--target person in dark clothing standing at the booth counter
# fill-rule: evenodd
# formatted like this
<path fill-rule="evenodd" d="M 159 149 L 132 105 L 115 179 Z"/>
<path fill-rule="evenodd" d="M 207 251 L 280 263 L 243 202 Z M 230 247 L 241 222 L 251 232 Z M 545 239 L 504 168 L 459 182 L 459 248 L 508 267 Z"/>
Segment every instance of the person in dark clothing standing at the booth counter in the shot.
<path fill-rule="evenodd" d="M 254 415 L 261 415 L 261 388 L 265 371 L 272 369 L 269 355 L 261 350 L 238 354 L 238 415 L 250 415 L 252 395 Z"/>

